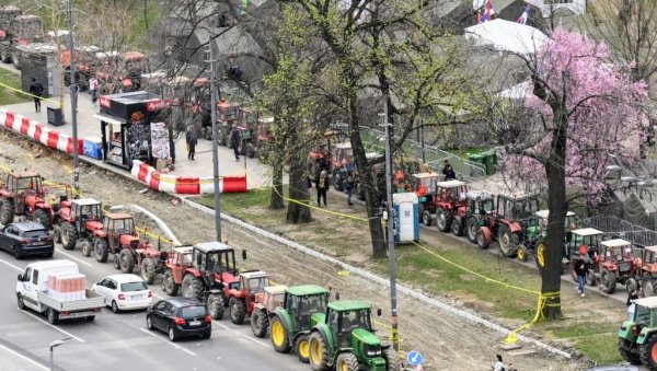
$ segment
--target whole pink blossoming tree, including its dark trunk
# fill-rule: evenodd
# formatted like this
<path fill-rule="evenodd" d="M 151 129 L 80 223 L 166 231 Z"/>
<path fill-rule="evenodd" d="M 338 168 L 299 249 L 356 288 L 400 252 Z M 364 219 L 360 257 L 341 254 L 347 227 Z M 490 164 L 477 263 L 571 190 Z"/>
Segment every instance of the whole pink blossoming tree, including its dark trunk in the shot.
<path fill-rule="evenodd" d="M 638 158 L 647 125 L 642 112 L 645 84 L 632 82 L 629 71 L 610 65 L 609 57 L 603 44 L 578 33 L 554 31 L 537 55 L 523 57 L 530 74 L 525 120 L 507 126 L 512 135 L 502 134 L 509 153 L 507 171 L 548 184 L 550 223 L 544 248 L 538 252 L 548 320 L 562 316 L 558 292 L 566 193 L 600 195 L 608 154 Z"/>

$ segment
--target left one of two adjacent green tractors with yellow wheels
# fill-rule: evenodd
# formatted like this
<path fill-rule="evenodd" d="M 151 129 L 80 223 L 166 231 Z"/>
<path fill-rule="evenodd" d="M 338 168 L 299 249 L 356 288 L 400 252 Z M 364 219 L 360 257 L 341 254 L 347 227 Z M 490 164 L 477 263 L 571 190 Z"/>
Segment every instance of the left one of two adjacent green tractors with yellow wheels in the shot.
<path fill-rule="evenodd" d="M 287 353 L 292 347 L 303 363 L 308 363 L 310 329 L 324 322 L 328 290 L 321 286 L 304 285 L 285 290 L 283 306 L 269 313 L 270 337 L 274 349 Z"/>

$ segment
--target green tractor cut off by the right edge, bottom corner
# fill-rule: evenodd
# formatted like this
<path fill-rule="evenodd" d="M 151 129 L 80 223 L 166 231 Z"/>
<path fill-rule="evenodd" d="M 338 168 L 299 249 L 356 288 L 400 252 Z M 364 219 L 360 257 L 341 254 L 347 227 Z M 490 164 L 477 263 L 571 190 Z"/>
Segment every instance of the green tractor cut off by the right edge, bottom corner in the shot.
<path fill-rule="evenodd" d="M 657 370 L 657 297 L 634 303 L 634 317 L 619 329 L 619 352 L 632 364 Z"/>

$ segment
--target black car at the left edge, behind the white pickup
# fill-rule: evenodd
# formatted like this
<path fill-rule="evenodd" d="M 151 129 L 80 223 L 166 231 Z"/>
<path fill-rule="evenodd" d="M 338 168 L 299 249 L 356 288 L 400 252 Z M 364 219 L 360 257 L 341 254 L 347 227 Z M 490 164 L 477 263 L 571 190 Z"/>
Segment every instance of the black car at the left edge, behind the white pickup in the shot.
<path fill-rule="evenodd" d="M 55 242 L 44 225 L 35 221 L 20 221 L 0 230 L 0 248 L 14 254 L 16 259 L 28 255 L 51 257 Z"/>

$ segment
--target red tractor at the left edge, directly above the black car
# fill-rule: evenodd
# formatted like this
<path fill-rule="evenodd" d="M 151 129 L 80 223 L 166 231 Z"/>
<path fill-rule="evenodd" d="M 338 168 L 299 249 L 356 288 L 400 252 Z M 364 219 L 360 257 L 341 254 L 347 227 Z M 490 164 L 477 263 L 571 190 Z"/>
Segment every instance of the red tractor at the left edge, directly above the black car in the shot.
<path fill-rule="evenodd" d="M 36 172 L 7 174 L 7 182 L 0 183 L 0 223 L 7 225 L 14 216 L 25 216 L 50 229 L 53 207 L 45 200 L 42 181 Z"/>

